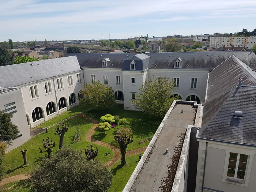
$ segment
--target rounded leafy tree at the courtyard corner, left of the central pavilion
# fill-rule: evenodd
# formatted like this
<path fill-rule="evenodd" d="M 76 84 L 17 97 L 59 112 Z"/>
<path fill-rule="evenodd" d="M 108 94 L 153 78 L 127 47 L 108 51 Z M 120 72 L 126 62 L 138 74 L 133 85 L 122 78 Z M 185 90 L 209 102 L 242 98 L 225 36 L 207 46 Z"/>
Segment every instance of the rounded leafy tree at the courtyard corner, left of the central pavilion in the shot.
<path fill-rule="evenodd" d="M 116 106 L 114 90 L 108 84 L 95 81 L 93 84 L 84 84 L 84 88 L 79 92 L 83 97 L 78 99 L 86 110 L 113 109 Z"/>

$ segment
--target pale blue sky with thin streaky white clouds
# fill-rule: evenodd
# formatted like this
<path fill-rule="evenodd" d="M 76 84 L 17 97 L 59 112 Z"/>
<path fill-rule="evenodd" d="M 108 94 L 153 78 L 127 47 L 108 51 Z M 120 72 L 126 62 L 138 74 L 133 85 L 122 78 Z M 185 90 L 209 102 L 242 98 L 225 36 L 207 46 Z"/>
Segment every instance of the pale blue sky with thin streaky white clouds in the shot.
<path fill-rule="evenodd" d="M 255 21 L 256 0 L 0 0 L 0 41 L 234 33 Z"/>

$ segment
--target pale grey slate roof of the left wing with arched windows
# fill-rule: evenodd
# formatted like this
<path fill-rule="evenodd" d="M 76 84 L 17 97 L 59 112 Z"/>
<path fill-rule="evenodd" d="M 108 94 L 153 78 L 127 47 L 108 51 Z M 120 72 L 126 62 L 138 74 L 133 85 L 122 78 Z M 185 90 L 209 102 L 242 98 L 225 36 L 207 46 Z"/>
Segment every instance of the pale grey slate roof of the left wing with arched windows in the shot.
<path fill-rule="evenodd" d="M 16 87 L 79 70 L 75 56 L 7 65 L 0 67 L 0 86 Z"/>

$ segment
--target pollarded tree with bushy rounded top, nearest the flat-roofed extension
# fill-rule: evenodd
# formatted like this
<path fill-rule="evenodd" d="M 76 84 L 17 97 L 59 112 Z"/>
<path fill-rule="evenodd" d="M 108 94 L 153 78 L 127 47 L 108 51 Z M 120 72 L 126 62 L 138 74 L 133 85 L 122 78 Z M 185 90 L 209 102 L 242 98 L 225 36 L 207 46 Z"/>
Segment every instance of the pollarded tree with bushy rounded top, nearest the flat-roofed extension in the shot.
<path fill-rule="evenodd" d="M 133 142 L 132 130 L 122 127 L 116 131 L 114 139 L 117 141 L 121 152 L 121 165 L 126 165 L 125 154 L 127 152 L 128 144 Z"/>

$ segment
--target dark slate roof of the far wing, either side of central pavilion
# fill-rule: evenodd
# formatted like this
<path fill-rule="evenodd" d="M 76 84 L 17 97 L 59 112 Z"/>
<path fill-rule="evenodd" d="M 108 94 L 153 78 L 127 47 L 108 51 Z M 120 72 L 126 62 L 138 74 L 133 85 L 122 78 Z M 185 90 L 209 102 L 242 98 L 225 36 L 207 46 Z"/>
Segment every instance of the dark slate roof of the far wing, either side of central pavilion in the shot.
<path fill-rule="evenodd" d="M 109 53 L 67 53 L 67 56 L 76 55 L 81 67 L 102 67 L 103 58 L 110 59 L 111 68 L 123 68 L 124 59 L 134 56 L 135 53 L 109 54 Z M 251 51 L 232 52 L 173 52 L 173 53 L 144 53 L 150 56 L 150 69 L 172 69 L 174 60 L 182 59 L 182 69 L 214 69 L 231 55 L 236 56 L 252 69 L 256 69 L 256 55 Z"/>

